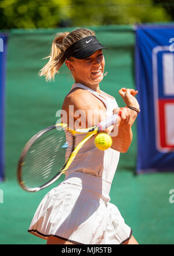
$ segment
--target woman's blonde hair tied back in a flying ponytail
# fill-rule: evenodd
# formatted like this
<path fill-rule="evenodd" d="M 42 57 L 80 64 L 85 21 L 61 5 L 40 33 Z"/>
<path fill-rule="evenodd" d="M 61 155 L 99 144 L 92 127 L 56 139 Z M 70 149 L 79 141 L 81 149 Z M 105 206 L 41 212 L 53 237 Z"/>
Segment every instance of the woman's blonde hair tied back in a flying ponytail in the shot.
<path fill-rule="evenodd" d="M 70 33 L 57 33 L 56 38 L 52 42 L 50 56 L 44 58 L 49 58 L 49 61 L 39 71 L 39 76 L 45 76 L 46 81 L 55 80 L 55 74 L 59 73 L 60 67 L 63 65 L 64 61 L 66 61 L 66 56 L 64 56 L 66 49 L 74 44 L 74 42 L 88 37 L 88 35 L 95 35 L 95 32 L 82 28 L 75 29 Z"/>

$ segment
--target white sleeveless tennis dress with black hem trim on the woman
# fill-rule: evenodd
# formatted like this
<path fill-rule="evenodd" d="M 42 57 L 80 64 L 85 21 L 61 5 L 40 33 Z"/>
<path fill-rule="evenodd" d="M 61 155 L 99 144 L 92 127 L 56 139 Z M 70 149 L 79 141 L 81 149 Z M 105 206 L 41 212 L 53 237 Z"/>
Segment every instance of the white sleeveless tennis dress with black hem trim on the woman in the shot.
<path fill-rule="evenodd" d="M 82 85 L 72 88 L 90 91 L 106 105 L 107 116 L 118 108 L 115 98 Z M 77 135 L 75 145 L 82 140 Z M 76 244 L 121 244 L 131 238 L 118 208 L 110 203 L 110 189 L 119 161 L 119 152 L 98 150 L 90 138 L 79 150 L 66 178 L 45 195 L 28 232 L 42 239 L 55 236 Z"/>

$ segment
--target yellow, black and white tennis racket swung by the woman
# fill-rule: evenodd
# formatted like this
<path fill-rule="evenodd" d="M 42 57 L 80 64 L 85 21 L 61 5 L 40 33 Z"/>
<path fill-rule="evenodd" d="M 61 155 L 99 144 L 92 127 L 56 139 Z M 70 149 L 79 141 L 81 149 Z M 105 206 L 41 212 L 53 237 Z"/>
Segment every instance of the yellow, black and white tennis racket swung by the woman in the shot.
<path fill-rule="evenodd" d="M 105 130 L 117 121 L 117 114 L 87 128 L 70 130 L 67 124 L 57 123 L 35 134 L 21 152 L 17 166 L 20 186 L 29 192 L 36 192 L 50 186 L 68 171 L 78 151 L 92 136 Z M 75 134 L 85 134 L 74 147 Z"/>

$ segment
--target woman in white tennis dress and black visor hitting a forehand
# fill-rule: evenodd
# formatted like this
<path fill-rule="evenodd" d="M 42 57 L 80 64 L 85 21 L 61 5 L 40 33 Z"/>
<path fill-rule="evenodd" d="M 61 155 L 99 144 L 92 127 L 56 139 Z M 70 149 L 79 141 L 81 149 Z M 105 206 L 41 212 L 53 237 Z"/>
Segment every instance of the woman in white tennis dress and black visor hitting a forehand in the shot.
<path fill-rule="evenodd" d="M 96 120 L 119 112 L 118 135 L 113 136 L 112 147 L 100 151 L 90 138 L 75 157 L 66 179 L 39 204 L 28 232 L 46 239 L 47 244 L 137 244 L 131 227 L 109 202 L 119 152 L 126 152 L 132 141 L 131 127 L 139 112 L 137 91 L 121 88 L 119 94 L 129 107 L 118 108 L 115 99 L 100 90 L 105 64 L 102 49 L 106 48 L 91 30 L 57 34 L 49 61 L 40 72 L 51 80 L 64 62 L 71 70 L 75 83 L 62 106 L 68 122 L 77 123 L 79 116 L 75 113 L 80 111 L 81 128 L 91 127 Z M 111 126 L 105 132 L 111 134 L 113 129 Z M 75 143 L 81 140 L 78 135 Z"/>

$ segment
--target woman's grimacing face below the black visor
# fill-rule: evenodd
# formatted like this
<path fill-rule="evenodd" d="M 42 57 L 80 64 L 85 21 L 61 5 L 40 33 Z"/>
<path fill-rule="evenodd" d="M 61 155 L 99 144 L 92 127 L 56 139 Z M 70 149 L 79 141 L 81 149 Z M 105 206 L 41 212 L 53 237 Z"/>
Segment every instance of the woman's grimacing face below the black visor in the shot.
<path fill-rule="evenodd" d="M 66 61 L 66 65 L 72 71 L 75 83 L 87 85 L 99 84 L 103 80 L 104 73 L 104 56 L 102 49 L 86 59 L 75 59 Z"/>

